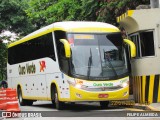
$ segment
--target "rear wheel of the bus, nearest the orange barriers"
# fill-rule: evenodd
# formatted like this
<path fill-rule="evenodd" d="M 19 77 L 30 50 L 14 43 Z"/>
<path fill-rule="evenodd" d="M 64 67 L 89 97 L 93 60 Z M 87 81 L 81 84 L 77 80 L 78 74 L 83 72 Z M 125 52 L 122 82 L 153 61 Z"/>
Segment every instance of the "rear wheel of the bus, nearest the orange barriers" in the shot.
<path fill-rule="evenodd" d="M 31 106 L 33 104 L 32 100 L 25 100 L 25 99 L 23 99 L 21 88 L 18 88 L 18 100 L 19 100 L 19 104 L 21 106 L 25 106 L 25 105 Z"/>

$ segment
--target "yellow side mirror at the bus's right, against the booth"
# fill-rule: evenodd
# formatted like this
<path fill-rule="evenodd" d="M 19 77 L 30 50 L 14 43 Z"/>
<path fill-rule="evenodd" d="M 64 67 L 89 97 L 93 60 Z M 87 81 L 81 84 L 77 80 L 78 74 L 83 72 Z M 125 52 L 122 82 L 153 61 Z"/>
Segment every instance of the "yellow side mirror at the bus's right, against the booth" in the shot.
<path fill-rule="evenodd" d="M 132 58 L 136 57 L 136 46 L 135 46 L 135 44 L 131 40 L 128 40 L 128 39 L 124 39 L 123 41 L 130 46 L 131 57 Z"/>

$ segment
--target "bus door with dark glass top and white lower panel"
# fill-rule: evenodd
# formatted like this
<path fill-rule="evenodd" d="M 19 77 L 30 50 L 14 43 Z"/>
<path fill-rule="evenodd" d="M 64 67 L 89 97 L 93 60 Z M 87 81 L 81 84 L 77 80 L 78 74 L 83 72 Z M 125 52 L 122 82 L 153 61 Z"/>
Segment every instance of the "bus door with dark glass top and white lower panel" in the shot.
<path fill-rule="evenodd" d="M 55 41 L 57 49 L 57 57 L 60 73 L 58 74 L 58 84 L 60 88 L 60 94 L 63 98 L 69 98 L 69 84 L 67 82 L 69 69 L 69 60 L 65 56 L 64 45 L 60 42 L 60 39 L 66 39 L 66 33 L 64 31 L 55 31 Z"/>

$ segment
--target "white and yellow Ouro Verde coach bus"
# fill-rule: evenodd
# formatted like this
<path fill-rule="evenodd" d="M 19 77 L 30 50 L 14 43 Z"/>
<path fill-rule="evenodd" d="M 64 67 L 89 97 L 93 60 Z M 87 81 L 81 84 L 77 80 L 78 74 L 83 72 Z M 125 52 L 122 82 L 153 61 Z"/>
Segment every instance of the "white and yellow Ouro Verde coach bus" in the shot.
<path fill-rule="evenodd" d="M 20 105 L 52 101 L 110 100 L 129 96 L 125 43 L 130 56 L 135 45 L 120 30 L 102 22 L 66 21 L 41 28 L 8 45 L 8 86 L 16 88 Z"/>

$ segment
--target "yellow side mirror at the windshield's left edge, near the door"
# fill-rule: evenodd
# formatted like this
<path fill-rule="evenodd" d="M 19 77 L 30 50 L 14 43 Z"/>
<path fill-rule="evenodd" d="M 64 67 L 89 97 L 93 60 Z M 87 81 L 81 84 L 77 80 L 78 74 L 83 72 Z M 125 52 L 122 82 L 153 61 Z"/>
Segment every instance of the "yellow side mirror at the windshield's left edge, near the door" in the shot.
<path fill-rule="evenodd" d="M 60 42 L 62 42 L 63 45 L 64 45 L 64 50 L 65 50 L 65 56 L 66 56 L 66 58 L 70 58 L 71 57 L 70 44 L 68 43 L 68 41 L 66 39 L 60 39 Z"/>

